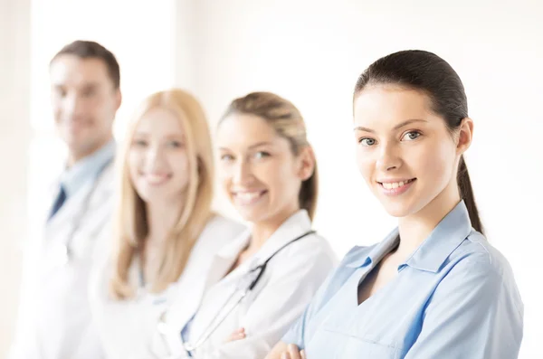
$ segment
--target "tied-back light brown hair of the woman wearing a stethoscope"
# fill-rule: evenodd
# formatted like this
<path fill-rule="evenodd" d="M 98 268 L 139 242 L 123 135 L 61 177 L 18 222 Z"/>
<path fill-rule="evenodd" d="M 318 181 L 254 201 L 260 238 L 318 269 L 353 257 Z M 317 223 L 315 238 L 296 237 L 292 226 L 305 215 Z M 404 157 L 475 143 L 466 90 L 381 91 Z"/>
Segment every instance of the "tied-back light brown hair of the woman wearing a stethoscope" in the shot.
<path fill-rule="evenodd" d="M 311 146 L 300 110 L 288 99 L 271 92 L 252 92 L 243 98 L 234 99 L 226 109 L 223 119 L 232 114 L 254 115 L 264 119 L 276 133 L 291 143 L 294 156 L 298 156 L 303 147 Z M 317 210 L 319 197 L 319 174 L 317 161 L 310 178 L 301 183 L 298 200 L 300 208 L 305 209 L 311 220 Z"/>

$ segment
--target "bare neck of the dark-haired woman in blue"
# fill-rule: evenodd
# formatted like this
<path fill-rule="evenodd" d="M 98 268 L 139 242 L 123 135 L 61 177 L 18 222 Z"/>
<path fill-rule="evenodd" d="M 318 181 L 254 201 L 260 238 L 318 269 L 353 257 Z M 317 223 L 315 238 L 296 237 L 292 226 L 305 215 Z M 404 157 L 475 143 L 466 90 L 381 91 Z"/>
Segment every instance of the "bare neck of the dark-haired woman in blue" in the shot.
<path fill-rule="evenodd" d="M 460 200 L 458 185 L 453 181 L 421 211 L 401 218 L 398 226 L 400 245 L 397 255 L 401 258 L 410 256 Z"/>

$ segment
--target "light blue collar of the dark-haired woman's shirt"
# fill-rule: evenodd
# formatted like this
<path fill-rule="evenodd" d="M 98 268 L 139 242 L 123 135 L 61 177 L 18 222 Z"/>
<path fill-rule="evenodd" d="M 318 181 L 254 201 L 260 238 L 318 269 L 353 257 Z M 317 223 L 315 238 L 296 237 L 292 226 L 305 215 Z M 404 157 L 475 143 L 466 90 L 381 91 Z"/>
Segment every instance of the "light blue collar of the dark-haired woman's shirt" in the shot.
<path fill-rule="evenodd" d="M 424 242 L 414 250 L 413 254 L 398 268 L 409 266 L 414 269 L 437 273 L 452 251 L 465 240 L 472 231 L 470 215 L 463 201 L 458 203 L 450 213 L 433 229 Z M 384 241 L 376 244 L 366 256 L 348 259 L 346 264 L 351 268 L 365 267 L 381 260 L 398 244 L 398 229 L 391 231 Z M 356 256 L 357 250 L 352 254 Z"/>

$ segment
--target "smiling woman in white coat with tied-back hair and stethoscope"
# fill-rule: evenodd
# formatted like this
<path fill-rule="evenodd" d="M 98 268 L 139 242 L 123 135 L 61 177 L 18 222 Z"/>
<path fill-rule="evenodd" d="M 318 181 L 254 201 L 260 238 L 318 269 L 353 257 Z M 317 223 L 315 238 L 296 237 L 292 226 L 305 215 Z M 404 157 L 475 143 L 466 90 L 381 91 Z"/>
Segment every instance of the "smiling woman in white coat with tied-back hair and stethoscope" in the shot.
<path fill-rule="evenodd" d="M 215 255 L 198 310 L 181 298 L 167 313 L 156 357 L 263 358 L 336 263 L 312 231 L 317 165 L 300 111 L 254 92 L 233 100 L 217 131 L 221 184 L 251 229 Z"/>

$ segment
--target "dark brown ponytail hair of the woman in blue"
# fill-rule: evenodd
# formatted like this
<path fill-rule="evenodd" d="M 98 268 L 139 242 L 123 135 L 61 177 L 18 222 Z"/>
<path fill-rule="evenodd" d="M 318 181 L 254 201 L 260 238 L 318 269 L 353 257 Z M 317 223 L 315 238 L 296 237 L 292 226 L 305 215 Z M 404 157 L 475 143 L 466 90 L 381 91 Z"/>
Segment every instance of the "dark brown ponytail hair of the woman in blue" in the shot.
<path fill-rule="evenodd" d="M 409 50 L 395 52 L 372 63 L 357 80 L 354 97 L 367 85 L 394 84 L 409 90 L 423 91 L 431 100 L 432 110 L 442 117 L 453 134 L 468 117 L 468 100 L 462 80 L 442 58 L 432 52 Z M 482 223 L 473 196 L 472 183 L 463 156 L 458 166 L 460 195 L 472 227 L 482 233 Z"/>

